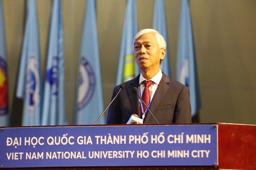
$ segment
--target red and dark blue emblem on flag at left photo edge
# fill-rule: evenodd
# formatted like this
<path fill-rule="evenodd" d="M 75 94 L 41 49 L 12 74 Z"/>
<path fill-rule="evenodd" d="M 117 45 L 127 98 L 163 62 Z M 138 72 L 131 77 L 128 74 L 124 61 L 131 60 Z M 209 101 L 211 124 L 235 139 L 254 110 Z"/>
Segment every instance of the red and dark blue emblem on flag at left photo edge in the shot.
<path fill-rule="evenodd" d="M 7 64 L 0 55 L 0 115 L 8 113 Z"/>

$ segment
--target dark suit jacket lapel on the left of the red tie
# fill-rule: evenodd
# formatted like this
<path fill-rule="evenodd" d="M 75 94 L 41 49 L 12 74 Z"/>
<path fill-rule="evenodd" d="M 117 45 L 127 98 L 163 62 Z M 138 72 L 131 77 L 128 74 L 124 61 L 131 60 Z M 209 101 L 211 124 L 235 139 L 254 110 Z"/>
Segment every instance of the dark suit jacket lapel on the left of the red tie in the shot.
<path fill-rule="evenodd" d="M 128 96 L 130 99 L 130 103 L 132 105 L 131 115 L 136 114 L 140 117 L 139 98 L 138 98 L 138 95 L 133 90 L 134 87 L 138 88 L 139 79 L 140 79 L 140 75 L 138 75 L 136 78 L 134 78 L 131 81 L 130 86 L 128 87 Z"/>

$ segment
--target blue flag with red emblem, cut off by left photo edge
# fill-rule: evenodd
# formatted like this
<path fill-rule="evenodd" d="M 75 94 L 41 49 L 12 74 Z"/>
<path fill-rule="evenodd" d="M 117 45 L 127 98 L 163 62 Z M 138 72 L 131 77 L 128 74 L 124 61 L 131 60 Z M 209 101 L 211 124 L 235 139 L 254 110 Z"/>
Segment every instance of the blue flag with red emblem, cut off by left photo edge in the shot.
<path fill-rule="evenodd" d="M 0 127 L 9 126 L 6 58 L 4 12 L 2 0 L 0 0 Z"/>

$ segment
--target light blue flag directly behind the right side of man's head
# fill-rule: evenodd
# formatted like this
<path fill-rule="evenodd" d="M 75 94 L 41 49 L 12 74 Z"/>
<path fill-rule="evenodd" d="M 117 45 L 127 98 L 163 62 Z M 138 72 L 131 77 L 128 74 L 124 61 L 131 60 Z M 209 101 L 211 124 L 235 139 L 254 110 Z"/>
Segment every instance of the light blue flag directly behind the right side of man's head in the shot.
<path fill-rule="evenodd" d="M 160 65 L 160 69 L 168 77 L 170 77 L 171 72 L 170 72 L 170 60 L 169 60 L 169 53 L 168 53 L 168 36 L 167 36 L 164 0 L 155 0 L 153 29 L 157 30 L 164 37 L 164 40 L 166 42 L 166 54 L 162 61 L 162 64 Z"/>

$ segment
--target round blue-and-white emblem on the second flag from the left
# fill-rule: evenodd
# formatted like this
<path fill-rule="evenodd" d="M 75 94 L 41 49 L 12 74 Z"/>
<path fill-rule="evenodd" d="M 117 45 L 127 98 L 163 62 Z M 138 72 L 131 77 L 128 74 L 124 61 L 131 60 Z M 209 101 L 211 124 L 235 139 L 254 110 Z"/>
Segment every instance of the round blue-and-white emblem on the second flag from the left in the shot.
<path fill-rule="evenodd" d="M 40 102 L 39 63 L 32 54 L 26 68 L 26 96 L 29 99 L 30 110 L 35 109 Z"/>

